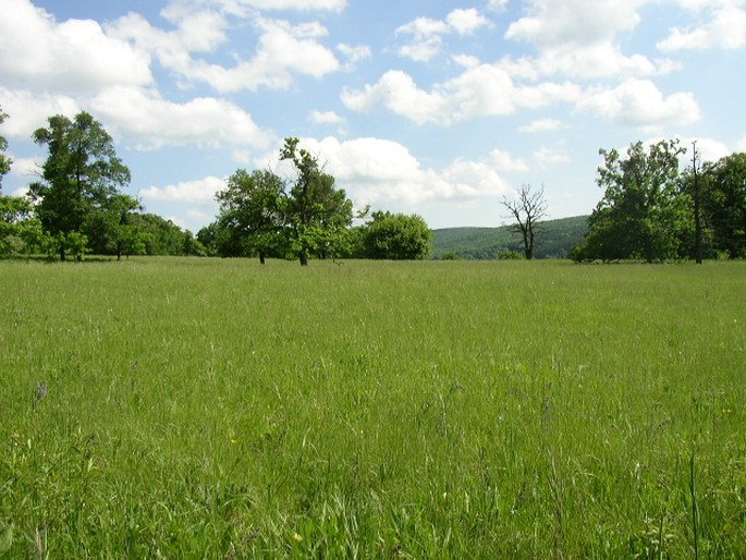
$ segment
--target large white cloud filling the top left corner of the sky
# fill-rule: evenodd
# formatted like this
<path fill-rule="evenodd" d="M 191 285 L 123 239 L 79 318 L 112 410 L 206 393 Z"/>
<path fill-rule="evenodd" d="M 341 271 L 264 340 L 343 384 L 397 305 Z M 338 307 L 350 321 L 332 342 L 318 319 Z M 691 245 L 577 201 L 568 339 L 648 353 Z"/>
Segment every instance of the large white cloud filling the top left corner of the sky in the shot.
<path fill-rule="evenodd" d="M 5 87 L 80 94 L 152 83 L 149 59 L 90 20 L 58 23 L 28 0 L 4 0 L 0 74 Z"/>

